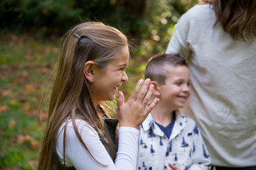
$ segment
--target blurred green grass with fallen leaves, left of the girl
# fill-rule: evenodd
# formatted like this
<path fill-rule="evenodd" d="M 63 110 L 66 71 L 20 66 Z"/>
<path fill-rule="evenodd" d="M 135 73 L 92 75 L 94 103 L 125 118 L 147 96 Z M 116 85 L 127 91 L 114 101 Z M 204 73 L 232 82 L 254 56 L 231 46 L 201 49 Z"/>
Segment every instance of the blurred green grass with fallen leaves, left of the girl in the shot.
<path fill-rule="evenodd" d="M 46 111 L 43 77 L 58 57 L 58 42 L 1 33 L 0 167 L 36 169 Z"/>

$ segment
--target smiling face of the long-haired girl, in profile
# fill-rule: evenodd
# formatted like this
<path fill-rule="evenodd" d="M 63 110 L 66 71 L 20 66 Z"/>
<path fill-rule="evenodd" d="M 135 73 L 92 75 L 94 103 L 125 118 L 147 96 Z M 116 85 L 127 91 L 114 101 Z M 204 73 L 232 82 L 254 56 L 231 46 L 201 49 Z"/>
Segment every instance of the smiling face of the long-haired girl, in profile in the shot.
<path fill-rule="evenodd" d="M 92 83 L 95 104 L 99 101 L 114 100 L 117 88 L 122 82 L 128 81 L 125 69 L 129 63 L 129 49 L 123 47 L 117 52 L 114 60 L 107 65 L 104 70 L 95 69 L 95 81 Z"/>

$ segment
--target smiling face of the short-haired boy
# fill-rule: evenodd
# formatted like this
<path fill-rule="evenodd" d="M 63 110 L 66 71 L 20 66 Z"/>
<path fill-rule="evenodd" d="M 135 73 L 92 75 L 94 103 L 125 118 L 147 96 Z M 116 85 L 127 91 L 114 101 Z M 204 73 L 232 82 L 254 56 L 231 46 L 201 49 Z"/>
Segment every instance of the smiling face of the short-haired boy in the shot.
<path fill-rule="evenodd" d="M 166 66 L 168 74 L 164 85 L 159 85 L 159 99 L 164 106 L 171 109 L 183 108 L 191 94 L 190 72 L 186 66 Z"/>

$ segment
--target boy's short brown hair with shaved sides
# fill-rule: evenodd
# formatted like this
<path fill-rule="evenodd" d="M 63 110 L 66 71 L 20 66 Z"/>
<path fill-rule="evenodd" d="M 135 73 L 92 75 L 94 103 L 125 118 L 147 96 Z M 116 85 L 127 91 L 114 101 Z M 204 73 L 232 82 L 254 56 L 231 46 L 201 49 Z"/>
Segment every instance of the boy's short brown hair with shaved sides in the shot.
<path fill-rule="evenodd" d="M 166 77 L 168 77 L 166 67 L 170 65 L 173 67 L 177 65 L 188 67 L 186 60 L 178 55 L 160 53 L 151 57 L 147 62 L 144 72 L 145 79 L 149 78 L 151 81 L 164 85 Z"/>

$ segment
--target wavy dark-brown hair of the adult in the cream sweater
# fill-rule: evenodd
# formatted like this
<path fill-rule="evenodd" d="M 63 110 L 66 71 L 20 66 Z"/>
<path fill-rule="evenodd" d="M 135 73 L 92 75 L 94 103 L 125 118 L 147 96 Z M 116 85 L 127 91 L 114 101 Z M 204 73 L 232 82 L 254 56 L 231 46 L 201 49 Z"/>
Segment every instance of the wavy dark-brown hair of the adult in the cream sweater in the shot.
<path fill-rule="evenodd" d="M 256 35 L 255 0 L 202 0 L 212 4 L 216 14 L 215 25 L 220 22 L 223 30 L 233 40 L 254 41 Z"/>

